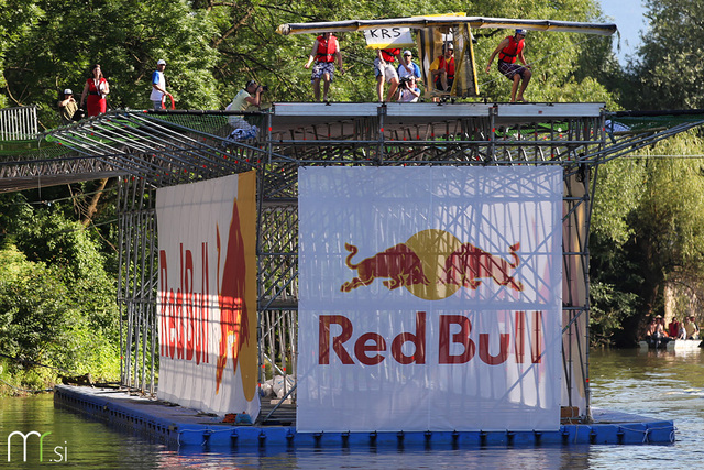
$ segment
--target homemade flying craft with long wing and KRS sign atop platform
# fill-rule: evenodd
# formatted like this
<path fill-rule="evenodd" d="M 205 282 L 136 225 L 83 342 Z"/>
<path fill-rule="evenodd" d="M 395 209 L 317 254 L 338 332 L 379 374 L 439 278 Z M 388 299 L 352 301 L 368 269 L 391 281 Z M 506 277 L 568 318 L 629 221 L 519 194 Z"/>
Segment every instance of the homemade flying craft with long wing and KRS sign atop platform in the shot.
<path fill-rule="evenodd" d="M 583 23 L 552 20 L 514 20 L 508 18 L 465 17 L 464 13 L 391 18 L 384 20 L 345 20 L 316 23 L 282 24 L 279 34 L 336 33 L 340 31 L 363 31 L 367 47 L 413 47 L 418 48 L 418 58 L 424 83 L 430 76 L 429 67 L 435 57 L 442 53 L 444 42 L 451 41 L 455 51 L 454 83 L 450 96 L 479 96 L 474 48 L 472 47 L 472 28 L 474 29 L 514 29 L 534 31 L 554 31 L 586 33 L 608 36 L 616 32 L 613 23 Z M 415 32 L 415 34 L 414 34 Z M 415 37 L 414 37 L 415 36 Z M 457 52 L 460 54 L 457 54 Z M 427 90 L 429 96 L 429 90 Z"/>

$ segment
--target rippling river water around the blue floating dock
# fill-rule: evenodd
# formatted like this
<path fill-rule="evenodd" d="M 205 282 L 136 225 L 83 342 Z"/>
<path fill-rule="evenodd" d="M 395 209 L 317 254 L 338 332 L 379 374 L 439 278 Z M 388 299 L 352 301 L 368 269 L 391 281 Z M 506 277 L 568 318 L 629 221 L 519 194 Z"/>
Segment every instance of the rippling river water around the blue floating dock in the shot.
<path fill-rule="evenodd" d="M 168 448 L 106 424 L 55 409 L 51 394 L 0 400 L 0 468 L 36 469 L 684 469 L 704 462 L 704 351 L 592 351 L 593 406 L 673 419 L 673 445 L 486 447 L 459 450 L 296 449 L 209 451 Z M 37 430 L 8 456 L 7 436 Z M 30 444 L 36 442 L 36 439 Z M 8 459 L 11 461 L 8 462 Z"/>

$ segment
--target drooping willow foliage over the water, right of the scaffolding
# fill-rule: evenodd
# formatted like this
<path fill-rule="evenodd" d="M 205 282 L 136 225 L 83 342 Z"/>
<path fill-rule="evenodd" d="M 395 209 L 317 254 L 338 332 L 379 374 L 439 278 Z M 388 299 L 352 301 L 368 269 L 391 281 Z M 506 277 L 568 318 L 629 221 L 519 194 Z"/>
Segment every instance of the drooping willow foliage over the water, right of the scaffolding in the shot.
<path fill-rule="evenodd" d="M 590 239 L 595 331 L 632 343 L 666 284 L 704 289 L 704 142 L 679 135 L 600 170 Z M 612 325 L 612 331 L 608 331 Z"/>

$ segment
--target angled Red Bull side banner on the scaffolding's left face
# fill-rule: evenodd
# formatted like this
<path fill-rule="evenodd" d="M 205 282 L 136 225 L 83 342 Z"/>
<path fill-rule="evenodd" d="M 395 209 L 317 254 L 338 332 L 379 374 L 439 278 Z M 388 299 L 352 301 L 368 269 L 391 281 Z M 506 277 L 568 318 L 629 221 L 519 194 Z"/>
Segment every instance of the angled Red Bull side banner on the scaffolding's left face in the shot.
<path fill-rule="evenodd" d="M 160 400 L 260 411 L 256 175 L 157 189 Z"/>

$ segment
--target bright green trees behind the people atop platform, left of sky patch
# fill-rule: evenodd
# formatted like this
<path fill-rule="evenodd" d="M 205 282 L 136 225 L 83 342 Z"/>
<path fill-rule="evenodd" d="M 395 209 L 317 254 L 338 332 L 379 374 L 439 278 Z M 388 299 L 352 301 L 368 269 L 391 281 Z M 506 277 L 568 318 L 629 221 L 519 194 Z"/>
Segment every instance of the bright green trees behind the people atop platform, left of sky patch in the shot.
<path fill-rule="evenodd" d="M 222 109 L 249 79 L 268 85 L 265 100 L 312 99 L 310 70 L 302 67 L 315 36 L 283 36 L 276 28 L 289 22 L 406 17 L 408 3 L 323 0 L 272 4 L 261 0 L 12 0 L 23 15 L 3 10 L 0 28 L 22 21 L 0 41 L 4 98 L 11 106 L 40 105 L 41 121 L 58 123 L 58 92 L 80 95 L 91 65 L 100 63 L 111 85 L 109 108 L 150 106 L 151 74 L 158 58 L 167 61 L 169 91 L 180 109 Z M 9 9 L 12 10 L 12 9 Z M 596 21 L 594 0 L 480 0 L 468 7 L 452 1 L 414 3 L 414 14 L 466 12 L 470 15 Z M 19 20 L 15 19 L 19 17 Z M 1 31 L 1 30 L 0 30 Z M 9 29 L 8 29 L 9 31 Z M 506 30 L 474 32 L 480 89 L 483 96 L 507 99 L 509 83 L 483 64 Z M 339 35 L 345 75 L 338 74 L 331 96 L 337 101 L 375 99 L 374 52 L 363 34 Z M 535 101 L 615 102 L 596 70 L 610 40 L 601 36 L 531 32 L 528 59 L 536 66 L 529 96 Z M 603 74 L 602 74 L 603 75 Z"/>

